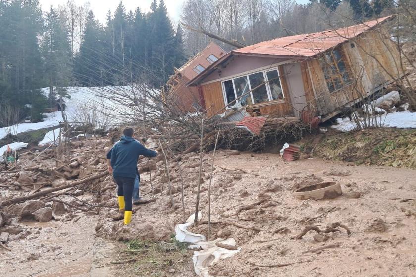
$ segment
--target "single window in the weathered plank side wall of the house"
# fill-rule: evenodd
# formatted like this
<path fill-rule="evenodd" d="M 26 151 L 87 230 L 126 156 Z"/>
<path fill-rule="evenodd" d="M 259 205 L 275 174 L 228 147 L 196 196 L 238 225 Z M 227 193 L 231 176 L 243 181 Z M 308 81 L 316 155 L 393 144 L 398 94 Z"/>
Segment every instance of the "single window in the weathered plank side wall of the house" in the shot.
<path fill-rule="evenodd" d="M 334 49 L 332 52 L 325 54 L 322 63 L 329 92 L 335 92 L 350 84 L 347 68 L 339 50 Z"/>

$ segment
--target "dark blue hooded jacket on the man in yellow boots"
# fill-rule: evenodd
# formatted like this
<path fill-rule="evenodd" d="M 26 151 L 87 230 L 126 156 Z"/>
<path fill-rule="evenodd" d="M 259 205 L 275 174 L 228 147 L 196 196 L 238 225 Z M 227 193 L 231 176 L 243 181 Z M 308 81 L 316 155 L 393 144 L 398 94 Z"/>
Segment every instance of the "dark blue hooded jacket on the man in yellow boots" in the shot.
<path fill-rule="evenodd" d="M 122 136 L 107 153 L 107 159 L 111 159 L 113 176 L 135 179 L 139 175 L 137 161 L 140 155 L 156 157 L 157 152 L 147 149 L 132 137 Z"/>

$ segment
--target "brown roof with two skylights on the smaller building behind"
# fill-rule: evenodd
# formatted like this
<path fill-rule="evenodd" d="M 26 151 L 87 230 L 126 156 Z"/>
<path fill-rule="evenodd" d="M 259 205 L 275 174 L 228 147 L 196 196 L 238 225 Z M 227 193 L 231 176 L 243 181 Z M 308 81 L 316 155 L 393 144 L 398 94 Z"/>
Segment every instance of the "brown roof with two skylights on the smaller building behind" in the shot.
<path fill-rule="evenodd" d="M 219 59 L 226 54 L 226 51 L 219 45 L 210 42 L 206 48 L 188 60 L 188 62 L 182 65 L 182 67 L 178 68 L 178 71 L 188 80 L 192 80 L 198 75 L 198 73 L 194 71 L 194 68 L 198 64 L 201 64 L 204 66 L 204 68 L 207 68 L 211 65 L 211 63 L 207 60 L 207 57 L 211 54 L 215 55 Z"/>

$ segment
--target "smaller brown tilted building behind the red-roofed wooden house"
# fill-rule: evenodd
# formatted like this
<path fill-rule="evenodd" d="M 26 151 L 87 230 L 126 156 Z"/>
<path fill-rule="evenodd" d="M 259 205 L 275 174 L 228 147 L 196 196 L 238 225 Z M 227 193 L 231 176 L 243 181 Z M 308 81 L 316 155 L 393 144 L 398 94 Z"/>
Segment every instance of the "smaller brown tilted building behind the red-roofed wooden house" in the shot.
<path fill-rule="evenodd" d="M 187 87 L 186 84 L 225 54 L 225 50 L 210 42 L 182 67 L 175 69 L 175 74 L 167 82 L 170 103 L 176 103 L 178 109 L 188 112 L 193 112 L 198 106 L 203 105 L 197 87 Z"/>

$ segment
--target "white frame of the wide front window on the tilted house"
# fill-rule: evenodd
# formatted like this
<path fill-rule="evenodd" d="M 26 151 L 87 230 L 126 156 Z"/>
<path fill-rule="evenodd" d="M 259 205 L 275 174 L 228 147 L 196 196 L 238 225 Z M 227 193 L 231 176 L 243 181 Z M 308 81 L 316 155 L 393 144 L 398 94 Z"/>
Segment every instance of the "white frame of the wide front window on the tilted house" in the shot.
<path fill-rule="evenodd" d="M 273 71 L 273 70 L 277 70 L 277 74 L 279 75 L 279 83 L 280 83 L 280 86 L 281 86 L 281 89 L 282 89 L 282 95 L 283 95 L 283 98 L 282 99 L 273 99 L 273 96 L 271 94 L 271 87 L 270 87 L 270 84 L 269 84 L 267 72 Z M 249 76 L 250 75 L 253 75 L 253 74 L 257 74 L 257 73 L 262 73 L 263 74 L 263 79 L 264 79 L 264 82 L 265 82 L 266 92 L 267 92 L 267 98 L 268 98 L 268 100 L 266 102 L 260 102 L 260 103 L 255 103 L 254 102 L 253 92 L 251 91 L 253 88 L 251 86 L 251 82 L 250 82 Z M 221 81 L 221 88 L 222 88 L 222 95 L 223 95 L 224 104 L 226 106 L 226 109 L 232 109 L 232 106 L 235 105 L 235 102 L 234 102 L 233 105 L 230 105 L 231 107 L 228 106 L 229 103 L 228 103 L 228 100 L 227 100 L 227 94 L 225 92 L 225 85 L 224 85 L 224 83 L 227 82 L 227 81 L 232 81 L 232 83 L 233 83 L 233 89 L 234 89 L 234 96 L 237 99 L 238 96 L 237 96 L 237 91 L 235 89 L 234 80 L 235 79 L 238 79 L 238 78 L 241 78 L 241 77 L 246 77 L 247 78 L 247 82 L 249 84 L 250 97 L 251 97 L 251 100 L 252 100 L 252 103 L 253 103 L 253 104 L 250 104 L 250 105 L 260 105 L 262 103 L 267 103 L 267 102 L 272 102 L 272 101 L 273 102 L 285 102 L 286 101 L 286 91 L 285 91 L 285 88 L 283 87 L 282 74 L 281 74 L 280 66 L 275 66 L 275 67 L 269 68 L 267 70 L 254 71 L 254 72 L 250 72 L 250 73 L 246 73 L 246 74 L 234 76 L 234 77 L 232 77 L 230 79 L 222 80 Z M 250 106 L 250 105 L 247 105 L 247 106 Z"/>

